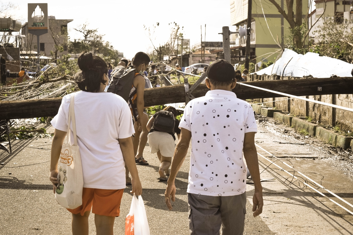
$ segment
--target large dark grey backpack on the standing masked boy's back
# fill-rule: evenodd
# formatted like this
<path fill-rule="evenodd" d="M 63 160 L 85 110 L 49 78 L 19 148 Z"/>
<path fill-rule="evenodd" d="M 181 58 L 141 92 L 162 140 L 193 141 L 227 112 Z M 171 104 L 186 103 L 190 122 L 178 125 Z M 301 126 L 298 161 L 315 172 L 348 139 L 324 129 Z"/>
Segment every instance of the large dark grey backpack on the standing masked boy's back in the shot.
<path fill-rule="evenodd" d="M 110 85 L 108 92 L 120 95 L 128 102 L 134 94 L 130 95 L 133 80 L 135 77 L 135 69 L 127 69 L 124 66 L 118 65 L 110 73 Z M 132 102 L 130 101 L 132 104 Z"/>

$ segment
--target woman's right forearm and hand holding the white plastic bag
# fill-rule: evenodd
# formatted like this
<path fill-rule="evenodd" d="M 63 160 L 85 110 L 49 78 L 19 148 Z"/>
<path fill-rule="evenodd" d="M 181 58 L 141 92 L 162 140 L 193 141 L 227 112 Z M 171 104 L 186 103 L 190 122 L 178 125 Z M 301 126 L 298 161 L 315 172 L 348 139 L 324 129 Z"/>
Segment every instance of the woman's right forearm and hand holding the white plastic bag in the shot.
<path fill-rule="evenodd" d="M 131 193 L 135 193 L 136 196 L 142 194 L 142 185 L 140 182 L 140 178 L 138 177 L 137 167 L 135 163 L 135 155 L 133 153 L 133 145 L 131 137 L 118 139 L 122 157 L 124 158 L 125 164 L 130 171 L 131 174 L 131 184 L 132 191 Z"/>

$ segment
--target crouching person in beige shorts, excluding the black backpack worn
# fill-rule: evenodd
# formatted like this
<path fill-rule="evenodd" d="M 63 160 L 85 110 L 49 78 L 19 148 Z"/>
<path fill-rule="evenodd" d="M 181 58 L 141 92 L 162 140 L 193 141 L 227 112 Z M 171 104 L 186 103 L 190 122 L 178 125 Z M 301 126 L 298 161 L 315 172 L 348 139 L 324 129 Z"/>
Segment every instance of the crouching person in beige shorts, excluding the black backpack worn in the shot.
<path fill-rule="evenodd" d="M 172 112 L 174 118 L 177 116 L 177 109 L 167 106 L 163 110 Z M 168 180 L 169 166 L 172 163 L 172 157 L 175 150 L 175 133 L 180 138 L 179 120 L 175 118 L 174 132 L 160 132 L 153 128 L 153 122 L 158 115 L 155 113 L 147 123 L 148 145 L 151 147 L 151 153 L 157 153 L 161 164 L 159 166 L 159 180 Z"/>

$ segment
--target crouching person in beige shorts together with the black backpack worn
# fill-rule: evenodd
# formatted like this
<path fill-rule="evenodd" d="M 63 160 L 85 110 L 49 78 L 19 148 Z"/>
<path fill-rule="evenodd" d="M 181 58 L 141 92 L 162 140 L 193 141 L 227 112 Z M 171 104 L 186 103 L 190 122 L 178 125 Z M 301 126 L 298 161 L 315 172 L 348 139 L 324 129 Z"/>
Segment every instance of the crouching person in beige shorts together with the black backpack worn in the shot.
<path fill-rule="evenodd" d="M 147 123 L 148 144 L 151 153 L 157 153 L 161 162 L 159 167 L 159 180 L 168 180 L 169 166 L 175 150 L 175 133 L 180 136 L 179 120 L 175 119 L 177 110 L 168 106 L 155 113 Z"/>

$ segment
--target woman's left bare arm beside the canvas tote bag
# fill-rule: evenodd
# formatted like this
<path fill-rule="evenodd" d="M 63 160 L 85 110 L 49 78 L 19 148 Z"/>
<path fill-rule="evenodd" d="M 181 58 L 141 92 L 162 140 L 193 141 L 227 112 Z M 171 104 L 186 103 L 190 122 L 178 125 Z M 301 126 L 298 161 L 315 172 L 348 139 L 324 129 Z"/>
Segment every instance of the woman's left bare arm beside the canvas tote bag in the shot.
<path fill-rule="evenodd" d="M 52 142 L 52 151 L 50 152 L 50 176 L 49 179 L 53 184 L 53 191 L 55 193 L 56 184 L 58 183 L 58 161 L 61 153 L 61 146 L 66 137 L 66 131 L 55 129 Z"/>

